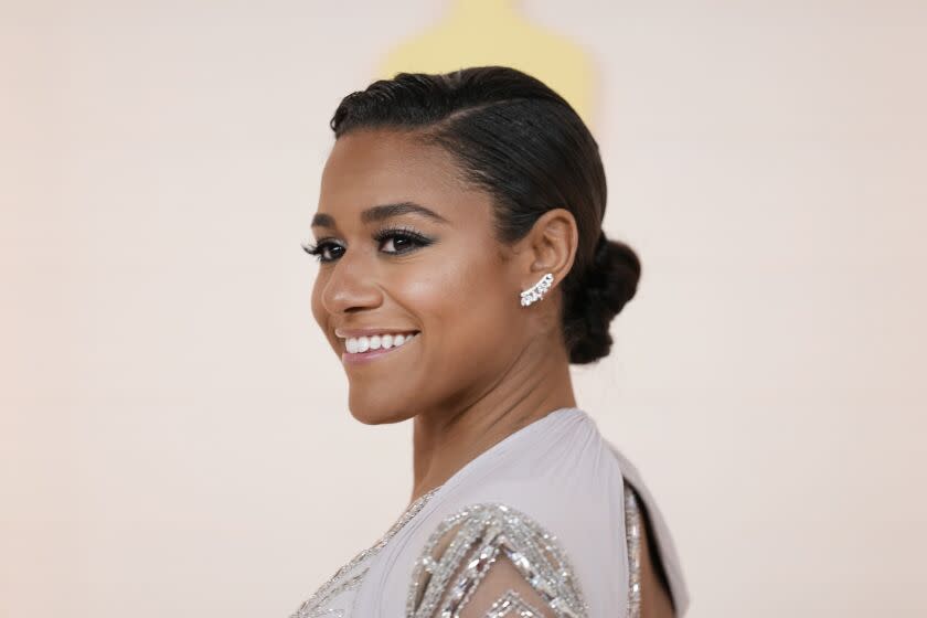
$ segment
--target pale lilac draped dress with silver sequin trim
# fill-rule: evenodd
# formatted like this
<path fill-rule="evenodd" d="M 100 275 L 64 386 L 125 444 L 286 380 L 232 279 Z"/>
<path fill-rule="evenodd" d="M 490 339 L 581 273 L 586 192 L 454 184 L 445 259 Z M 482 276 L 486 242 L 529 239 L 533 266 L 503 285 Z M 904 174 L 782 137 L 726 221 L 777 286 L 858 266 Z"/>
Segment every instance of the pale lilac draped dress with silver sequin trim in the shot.
<path fill-rule="evenodd" d="M 291 618 L 636 618 L 642 518 L 682 617 L 680 561 L 640 473 L 585 411 L 558 408 L 412 503 Z"/>

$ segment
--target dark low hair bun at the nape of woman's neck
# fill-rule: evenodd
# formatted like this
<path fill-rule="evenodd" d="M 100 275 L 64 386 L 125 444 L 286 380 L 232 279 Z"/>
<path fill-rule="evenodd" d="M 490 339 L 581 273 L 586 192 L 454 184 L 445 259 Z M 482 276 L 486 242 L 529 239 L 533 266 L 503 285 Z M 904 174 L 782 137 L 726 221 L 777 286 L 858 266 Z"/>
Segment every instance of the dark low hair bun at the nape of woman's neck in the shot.
<path fill-rule="evenodd" d="M 640 259 L 630 246 L 609 241 L 605 232 L 599 235 L 593 262 L 565 306 L 571 363 L 592 363 L 608 355 L 612 343 L 608 326 L 635 297 L 640 271 Z"/>

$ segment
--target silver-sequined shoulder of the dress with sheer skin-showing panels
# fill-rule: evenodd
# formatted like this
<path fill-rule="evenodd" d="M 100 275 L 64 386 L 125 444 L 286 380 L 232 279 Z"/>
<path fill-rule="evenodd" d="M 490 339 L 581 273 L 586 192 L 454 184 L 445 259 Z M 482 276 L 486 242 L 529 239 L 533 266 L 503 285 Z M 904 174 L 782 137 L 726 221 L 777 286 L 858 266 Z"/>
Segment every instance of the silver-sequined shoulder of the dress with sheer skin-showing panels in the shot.
<path fill-rule="evenodd" d="M 580 618 L 587 609 L 561 540 L 523 511 L 484 502 L 431 531 L 412 574 L 406 616 Z"/>

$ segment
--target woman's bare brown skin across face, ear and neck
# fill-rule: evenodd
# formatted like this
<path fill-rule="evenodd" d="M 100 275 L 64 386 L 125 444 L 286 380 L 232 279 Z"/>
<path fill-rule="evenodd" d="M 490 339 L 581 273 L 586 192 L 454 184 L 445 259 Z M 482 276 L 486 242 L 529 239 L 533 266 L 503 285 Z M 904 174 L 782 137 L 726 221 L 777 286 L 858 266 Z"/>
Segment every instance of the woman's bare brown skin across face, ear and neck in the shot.
<path fill-rule="evenodd" d="M 560 283 L 578 242 L 573 214 L 547 211 L 525 237 L 503 245 L 493 236 L 491 196 L 459 178 L 454 158 L 414 132 L 355 130 L 329 154 L 316 214 L 330 219 L 312 226 L 329 259 L 319 266 L 312 315 L 339 362 L 344 339 L 335 329 L 420 331 L 371 363 L 343 365 L 358 420 L 413 419 L 409 503 L 514 431 L 576 406 L 560 320 Z M 371 206 L 405 201 L 444 221 L 417 213 L 362 220 Z M 433 242 L 373 237 L 388 227 Z M 554 275 L 552 289 L 522 307 L 519 292 L 545 273 Z M 649 560 L 644 566 L 644 584 L 656 585 Z M 647 611 L 658 604 L 644 597 L 644 616 L 664 616 Z"/>

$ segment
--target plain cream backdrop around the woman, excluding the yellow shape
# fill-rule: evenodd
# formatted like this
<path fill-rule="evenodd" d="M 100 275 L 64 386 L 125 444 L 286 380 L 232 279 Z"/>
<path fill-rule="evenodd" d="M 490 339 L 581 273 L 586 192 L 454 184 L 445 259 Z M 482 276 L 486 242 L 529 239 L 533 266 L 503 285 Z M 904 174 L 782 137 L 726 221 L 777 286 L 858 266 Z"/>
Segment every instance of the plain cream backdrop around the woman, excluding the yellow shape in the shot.
<path fill-rule="evenodd" d="M 576 387 L 690 616 L 927 615 L 927 7 L 520 7 L 598 72 L 644 271 Z M 299 243 L 339 99 L 445 10 L 0 4 L 0 616 L 288 616 L 405 505 Z"/>

